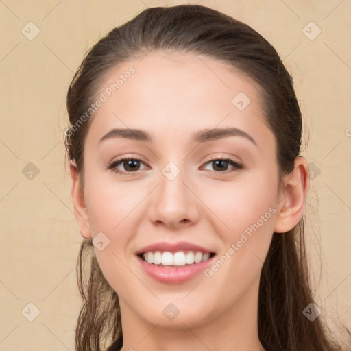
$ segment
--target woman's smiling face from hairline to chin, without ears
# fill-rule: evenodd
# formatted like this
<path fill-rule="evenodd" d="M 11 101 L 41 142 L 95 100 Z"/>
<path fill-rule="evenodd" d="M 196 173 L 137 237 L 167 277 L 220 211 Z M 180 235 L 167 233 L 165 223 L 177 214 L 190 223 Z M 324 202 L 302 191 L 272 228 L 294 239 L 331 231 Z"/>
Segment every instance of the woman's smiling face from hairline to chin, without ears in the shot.
<path fill-rule="evenodd" d="M 116 67 L 96 99 L 84 233 L 122 319 L 191 328 L 257 313 L 281 207 L 257 86 L 217 60 L 158 51 Z"/>

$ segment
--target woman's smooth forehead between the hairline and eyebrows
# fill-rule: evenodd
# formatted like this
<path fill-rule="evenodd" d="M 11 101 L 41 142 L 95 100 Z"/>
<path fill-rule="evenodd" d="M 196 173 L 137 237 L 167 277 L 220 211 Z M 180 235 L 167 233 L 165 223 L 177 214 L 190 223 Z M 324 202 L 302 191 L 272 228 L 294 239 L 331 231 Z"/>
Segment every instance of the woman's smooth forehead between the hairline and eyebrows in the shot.
<path fill-rule="evenodd" d="M 252 80 L 214 58 L 152 51 L 110 71 L 97 89 L 96 99 L 104 95 L 104 102 L 88 134 L 101 137 L 116 127 L 185 136 L 234 126 L 254 134 L 261 128 L 271 137 L 259 93 Z"/>

